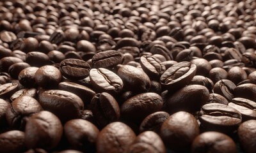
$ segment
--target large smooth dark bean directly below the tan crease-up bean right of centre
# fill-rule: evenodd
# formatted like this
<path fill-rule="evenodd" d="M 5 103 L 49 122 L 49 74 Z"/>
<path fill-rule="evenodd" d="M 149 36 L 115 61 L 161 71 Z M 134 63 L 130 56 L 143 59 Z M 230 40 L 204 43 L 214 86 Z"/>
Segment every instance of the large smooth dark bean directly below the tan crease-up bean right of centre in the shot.
<path fill-rule="evenodd" d="M 171 94 L 166 101 L 166 112 L 186 111 L 195 113 L 207 103 L 209 91 L 202 85 L 188 85 Z"/>

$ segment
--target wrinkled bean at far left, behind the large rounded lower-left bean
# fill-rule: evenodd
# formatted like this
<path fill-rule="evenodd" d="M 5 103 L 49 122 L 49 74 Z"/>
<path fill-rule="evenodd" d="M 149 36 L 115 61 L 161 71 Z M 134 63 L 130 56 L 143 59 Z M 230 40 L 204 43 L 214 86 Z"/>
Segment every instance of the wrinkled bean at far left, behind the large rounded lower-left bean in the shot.
<path fill-rule="evenodd" d="M 29 116 L 42 110 L 42 106 L 36 99 L 21 96 L 10 103 L 6 110 L 6 120 L 10 127 L 24 129 Z"/>

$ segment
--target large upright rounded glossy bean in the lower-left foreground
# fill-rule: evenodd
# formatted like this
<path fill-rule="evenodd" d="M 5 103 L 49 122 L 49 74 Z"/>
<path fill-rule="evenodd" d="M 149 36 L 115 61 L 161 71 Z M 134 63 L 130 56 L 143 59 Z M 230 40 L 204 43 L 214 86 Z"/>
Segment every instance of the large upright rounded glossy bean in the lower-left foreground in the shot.
<path fill-rule="evenodd" d="M 28 149 L 53 149 L 62 135 L 62 125 L 58 117 L 51 112 L 34 113 L 25 128 L 25 143 Z"/>

